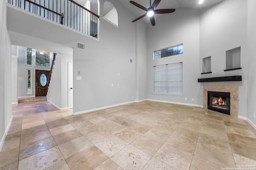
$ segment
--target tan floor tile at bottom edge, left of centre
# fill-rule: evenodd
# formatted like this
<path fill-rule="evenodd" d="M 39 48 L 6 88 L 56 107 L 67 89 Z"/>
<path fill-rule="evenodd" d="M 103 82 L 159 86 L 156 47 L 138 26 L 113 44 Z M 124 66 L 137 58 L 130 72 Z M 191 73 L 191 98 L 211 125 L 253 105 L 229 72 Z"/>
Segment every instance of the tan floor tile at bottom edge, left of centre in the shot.
<path fill-rule="evenodd" d="M 95 146 L 66 159 L 71 170 L 92 170 L 108 160 L 108 156 Z"/>

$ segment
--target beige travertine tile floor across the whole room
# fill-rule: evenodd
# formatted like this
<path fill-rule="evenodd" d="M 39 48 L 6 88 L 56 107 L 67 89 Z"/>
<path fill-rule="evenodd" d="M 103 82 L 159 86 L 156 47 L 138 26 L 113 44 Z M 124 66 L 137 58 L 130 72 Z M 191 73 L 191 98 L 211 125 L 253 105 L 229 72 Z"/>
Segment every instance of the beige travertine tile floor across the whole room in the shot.
<path fill-rule="evenodd" d="M 48 102 L 13 105 L 13 121 L 0 151 L 0 170 L 241 166 L 256 166 L 256 130 L 247 121 L 150 101 L 75 116 Z"/>

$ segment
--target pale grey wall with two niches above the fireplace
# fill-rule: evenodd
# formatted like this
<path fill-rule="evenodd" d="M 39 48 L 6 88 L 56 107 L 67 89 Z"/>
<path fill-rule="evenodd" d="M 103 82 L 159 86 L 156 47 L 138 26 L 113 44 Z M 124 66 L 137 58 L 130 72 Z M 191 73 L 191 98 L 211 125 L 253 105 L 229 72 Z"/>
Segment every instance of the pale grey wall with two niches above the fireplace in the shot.
<path fill-rule="evenodd" d="M 238 12 L 239 11 L 239 12 Z M 242 82 L 200 83 L 203 86 L 238 86 L 238 115 L 247 117 L 247 1 L 224 0 L 200 14 L 200 58 L 211 56 L 212 73 L 199 78 L 242 75 Z M 226 70 L 226 51 L 241 47 L 241 70 Z M 202 103 L 202 100 L 200 101 Z"/>

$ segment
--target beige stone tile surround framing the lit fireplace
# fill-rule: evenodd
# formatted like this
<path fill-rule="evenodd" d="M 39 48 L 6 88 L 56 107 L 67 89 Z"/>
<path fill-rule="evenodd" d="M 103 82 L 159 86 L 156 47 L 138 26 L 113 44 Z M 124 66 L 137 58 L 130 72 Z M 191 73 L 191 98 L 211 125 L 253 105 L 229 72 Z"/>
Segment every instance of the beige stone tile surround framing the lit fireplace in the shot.
<path fill-rule="evenodd" d="M 204 86 L 204 108 L 207 109 L 207 92 L 230 92 L 230 116 L 238 117 L 238 86 Z"/>

